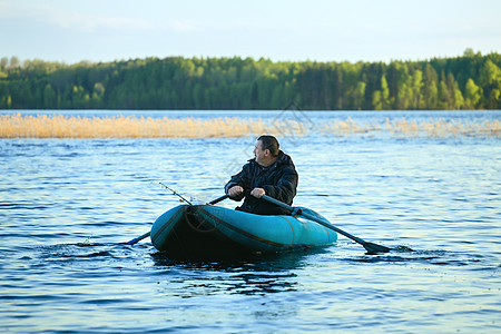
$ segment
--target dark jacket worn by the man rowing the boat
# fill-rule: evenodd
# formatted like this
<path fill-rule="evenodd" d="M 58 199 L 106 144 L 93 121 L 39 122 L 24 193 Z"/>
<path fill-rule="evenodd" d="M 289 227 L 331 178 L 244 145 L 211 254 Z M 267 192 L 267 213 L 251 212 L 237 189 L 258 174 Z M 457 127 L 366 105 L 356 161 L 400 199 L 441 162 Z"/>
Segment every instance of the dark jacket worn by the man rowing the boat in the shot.
<path fill-rule="evenodd" d="M 263 188 L 269 197 L 292 205 L 296 196 L 297 179 L 293 160 L 281 150 L 276 161 L 268 167 L 261 166 L 255 159 L 248 160 L 240 173 L 232 176 L 225 186 L 225 191 L 227 194 L 233 186 L 244 188 L 244 194 L 239 198 L 233 198 L 242 200 L 245 197 L 242 206 L 237 207 L 239 210 L 258 215 L 288 215 L 289 213 L 275 204 L 252 196 L 250 191 L 256 187 Z"/>

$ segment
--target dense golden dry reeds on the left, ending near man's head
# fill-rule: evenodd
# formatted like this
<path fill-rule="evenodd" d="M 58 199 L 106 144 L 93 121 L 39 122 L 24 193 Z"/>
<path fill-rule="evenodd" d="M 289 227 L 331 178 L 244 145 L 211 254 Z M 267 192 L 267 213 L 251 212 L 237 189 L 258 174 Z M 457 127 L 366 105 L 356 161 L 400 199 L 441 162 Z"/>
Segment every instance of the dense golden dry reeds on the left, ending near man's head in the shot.
<path fill-rule="evenodd" d="M 303 134 L 301 122 L 288 130 Z M 151 118 L 151 117 L 65 117 L 61 115 L 0 115 L 0 138 L 213 138 L 279 135 L 279 129 L 262 119 L 238 118 Z"/>

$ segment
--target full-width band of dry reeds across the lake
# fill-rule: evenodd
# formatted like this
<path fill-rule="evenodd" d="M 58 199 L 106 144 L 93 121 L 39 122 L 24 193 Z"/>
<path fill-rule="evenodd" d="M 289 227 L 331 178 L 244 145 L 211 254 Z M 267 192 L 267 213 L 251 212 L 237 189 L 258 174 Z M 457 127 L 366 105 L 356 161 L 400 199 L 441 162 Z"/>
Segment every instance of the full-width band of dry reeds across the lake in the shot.
<path fill-rule="evenodd" d="M 239 118 L 150 118 L 150 117 L 65 117 L 61 115 L 0 115 L 0 138 L 213 138 L 272 134 L 279 137 L 304 136 L 311 131 L 350 136 L 390 132 L 406 137 L 501 136 L 501 121 L 453 121 L 443 119 L 386 119 L 358 122 L 352 118 L 332 120 L 312 129 L 301 121 L 275 119 L 271 124 Z"/>

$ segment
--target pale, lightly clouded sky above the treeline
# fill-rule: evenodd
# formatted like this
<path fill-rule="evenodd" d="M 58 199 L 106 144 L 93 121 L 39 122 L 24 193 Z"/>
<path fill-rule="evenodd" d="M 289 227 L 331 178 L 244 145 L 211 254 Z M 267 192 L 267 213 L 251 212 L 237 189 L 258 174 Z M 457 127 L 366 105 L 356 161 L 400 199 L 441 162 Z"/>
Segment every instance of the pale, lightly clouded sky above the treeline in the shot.
<path fill-rule="evenodd" d="M 0 0 L 0 57 L 384 61 L 501 51 L 500 0 Z"/>

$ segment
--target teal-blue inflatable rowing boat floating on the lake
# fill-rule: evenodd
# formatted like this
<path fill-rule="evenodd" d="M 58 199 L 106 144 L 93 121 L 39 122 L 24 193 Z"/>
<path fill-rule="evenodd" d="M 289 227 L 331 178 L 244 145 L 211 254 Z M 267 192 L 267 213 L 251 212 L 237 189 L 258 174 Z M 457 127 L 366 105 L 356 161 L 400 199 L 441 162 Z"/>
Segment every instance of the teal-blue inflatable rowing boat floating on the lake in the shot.
<path fill-rule="evenodd" d="M 330 224 L 317 213 L 304 213 Z M 266 254 L 326 246 L 337 234 L 317 222 L 261 216 L 213 205 L 179 205 L 157 218 L 150 232 L 158 250 L 174 256 Z"/>

